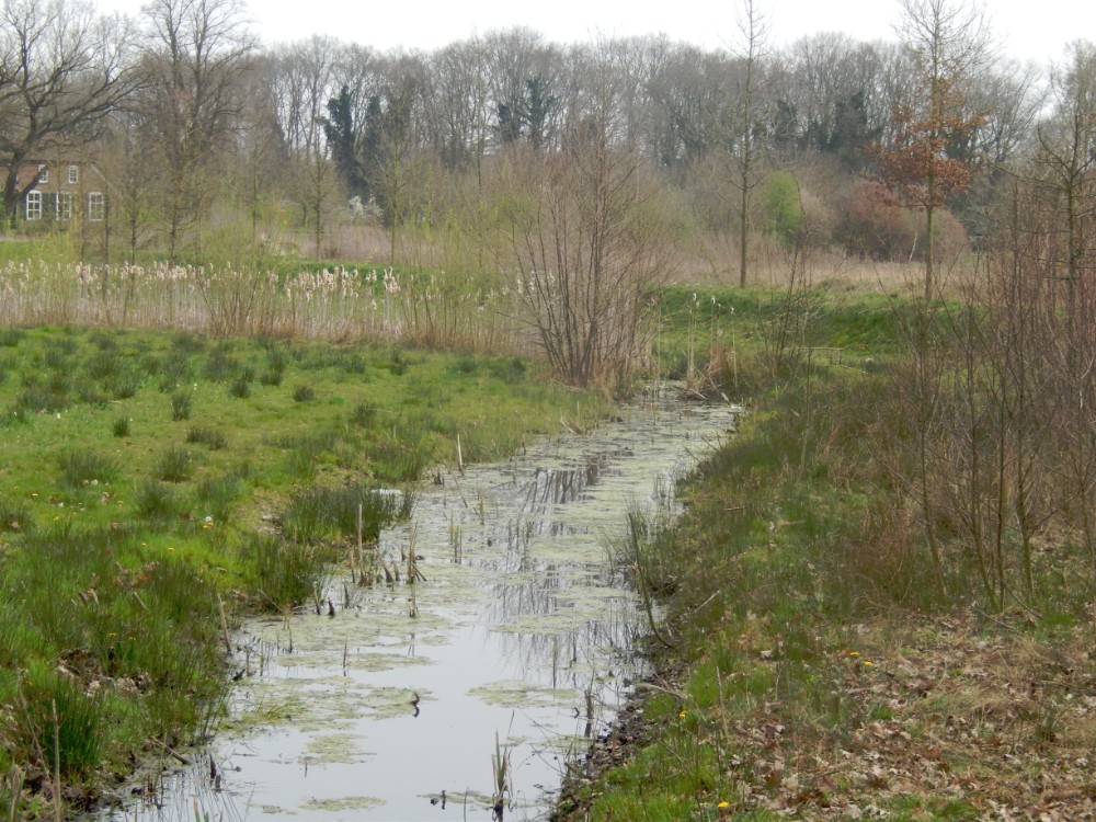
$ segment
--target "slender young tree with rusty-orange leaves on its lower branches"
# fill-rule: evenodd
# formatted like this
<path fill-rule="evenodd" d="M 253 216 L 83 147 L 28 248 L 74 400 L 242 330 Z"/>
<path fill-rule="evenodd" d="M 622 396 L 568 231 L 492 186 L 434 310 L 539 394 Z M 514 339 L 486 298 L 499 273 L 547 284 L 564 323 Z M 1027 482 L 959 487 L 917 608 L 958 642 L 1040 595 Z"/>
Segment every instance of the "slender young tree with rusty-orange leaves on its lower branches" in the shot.
<path fill-rule="evenodd" d="M 890 145 L 874 147 L 880 182 L 925 215 L 925 299 L 935 283 L 935 217 L 949 195 L 970 184 L 977 157 L 957 156 L 982 125 L 964 106 L 962 83 L 983 68 L 991 41 L 980 8 L 961 0 L 902 0 L 903 43 L 914 59 L 920 96 L 894 110 Z"/>

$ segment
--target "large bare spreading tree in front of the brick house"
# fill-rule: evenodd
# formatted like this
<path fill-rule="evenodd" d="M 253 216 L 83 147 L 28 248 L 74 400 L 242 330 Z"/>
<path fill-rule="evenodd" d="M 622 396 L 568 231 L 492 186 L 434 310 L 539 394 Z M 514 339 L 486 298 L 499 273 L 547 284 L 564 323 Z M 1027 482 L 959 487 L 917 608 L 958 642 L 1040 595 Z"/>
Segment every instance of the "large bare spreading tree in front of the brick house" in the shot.
<path fill-rule="evenodd" d="M 27 162 L 62 159 L 94 139 L 135 89 L 128 22 L 88 3 L 4 0 L 0 8 L 0 165 L 3 212 L 13 220 L 37 179 Z"/>

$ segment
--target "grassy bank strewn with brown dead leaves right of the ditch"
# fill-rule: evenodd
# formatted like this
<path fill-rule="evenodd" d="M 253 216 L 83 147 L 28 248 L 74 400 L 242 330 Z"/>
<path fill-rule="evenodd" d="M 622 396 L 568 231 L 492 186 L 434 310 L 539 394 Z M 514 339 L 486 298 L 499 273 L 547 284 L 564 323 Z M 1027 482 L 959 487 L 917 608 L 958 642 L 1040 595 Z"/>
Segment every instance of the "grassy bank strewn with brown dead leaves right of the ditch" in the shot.
<path fill-rule="evenodd" d="M 998 318 L 819 292 L 712 296 L 672 298 L 735 307 L 738 349 L 726 327 L 699 335 L 697 373 L 723 390 L 737 379 L 749 414 L 684 483 L 680 521 L 640 515 L 623 539 L 639 584 L 673 592 L 657 675 L 574 768 L 559 818 L 1086 818 L 1096 589 L 1082 506 L 1041 476 L 1027 553 L 1017 487 L 964 472 L 962 429 L 932 415 L 975 409 L 984 439 L 971 442 L 993 464 L 1001 392 L 963 387 L 987 385 L 994 361 L 964 366 L 960 342 Z M 926 336 L 937 403 L 918 416 L 911 364 Z M 1015 436 L 997 446 L 1012 455 L 1001 476 Z M 968 495 L 945 494 L 957 487 Z M 970 489 L 974 513 L 960 504 Z M 978 516 L 1000 523 L 984 550 Z"/>

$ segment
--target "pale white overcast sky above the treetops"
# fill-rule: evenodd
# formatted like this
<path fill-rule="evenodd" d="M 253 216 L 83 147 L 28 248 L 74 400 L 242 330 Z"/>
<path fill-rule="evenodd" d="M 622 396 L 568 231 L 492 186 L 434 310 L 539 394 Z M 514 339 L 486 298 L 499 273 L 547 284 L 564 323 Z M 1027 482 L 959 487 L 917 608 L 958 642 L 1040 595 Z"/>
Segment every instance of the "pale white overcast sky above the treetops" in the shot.
<path fill-rule="evenodd" d="M 102 11 L 137 15 L 146 0 L 98 0 Z M 432 50 L 476 33 L 524 25 L 555 43 L 598 36 L 665 33 L 705 48 L 740 39 L 734 0 L 251 0 L 255 34 L 265 43 L 311 34 L 388 50 Z M 845 32 L 856 39 L 893 39 L 898 0 L 760 0 L 774 45 L 813 32 Z M 1059 60 L 1066 43 L 1096 41 L 1091 0 L 987 0 L 994 33 L 1006 54 L 1040 66 Z"/>

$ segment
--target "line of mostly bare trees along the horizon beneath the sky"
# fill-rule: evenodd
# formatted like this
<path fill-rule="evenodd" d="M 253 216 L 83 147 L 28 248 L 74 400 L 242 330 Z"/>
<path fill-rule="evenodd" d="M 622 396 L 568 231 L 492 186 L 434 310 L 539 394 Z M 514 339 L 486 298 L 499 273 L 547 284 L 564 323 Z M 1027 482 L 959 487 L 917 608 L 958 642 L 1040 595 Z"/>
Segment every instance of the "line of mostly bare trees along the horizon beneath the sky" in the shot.
<path fill-rule="evenodd" d="M 643 168 L 676 231 L 728 236 L 741 282 L 768 237 L 923 260 L 931 283 L 933 244 L 982 238 L 1002 180 L 1084 176 L 1070 163 L 1091 139 L 1076 89 L 1094 47 L 1065 47 L 1048 75 L 995 52 L 977 7 L 899 5 L 893 42 L 773 48 L 743 0 L 728 49 L 511 28 L 421 52 L 262 46 L 239 0 L 152 0 L 136 20 L 5 0 L 3 206 L 13 221 L 33 184 L 16 186 L 22 163 L 82 156 L 109 172 L 130 256 L 201 252 L 226 221 L 293 229 L 323 255 L 349 219 L 383 225 L 395 258 L 409 226 L 475 232 L 507 164 L 601 146 Z"/>

